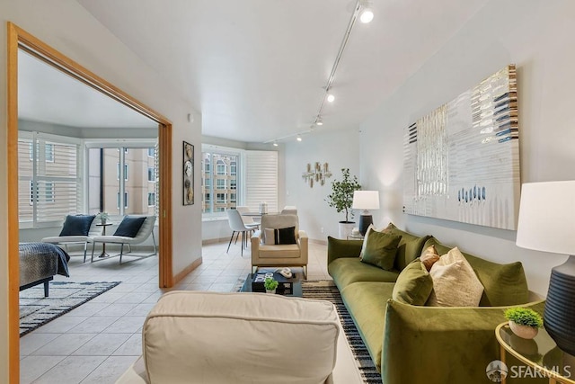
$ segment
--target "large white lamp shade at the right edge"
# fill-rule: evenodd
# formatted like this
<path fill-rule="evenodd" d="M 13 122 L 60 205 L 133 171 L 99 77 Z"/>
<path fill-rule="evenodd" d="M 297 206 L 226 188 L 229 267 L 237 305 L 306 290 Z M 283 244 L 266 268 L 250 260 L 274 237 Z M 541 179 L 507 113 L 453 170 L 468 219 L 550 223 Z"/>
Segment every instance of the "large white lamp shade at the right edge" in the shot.
<path fill-rule="evenodd" d="M 575 181 L 523 184 L 516 244 L 575 255 Z"/>

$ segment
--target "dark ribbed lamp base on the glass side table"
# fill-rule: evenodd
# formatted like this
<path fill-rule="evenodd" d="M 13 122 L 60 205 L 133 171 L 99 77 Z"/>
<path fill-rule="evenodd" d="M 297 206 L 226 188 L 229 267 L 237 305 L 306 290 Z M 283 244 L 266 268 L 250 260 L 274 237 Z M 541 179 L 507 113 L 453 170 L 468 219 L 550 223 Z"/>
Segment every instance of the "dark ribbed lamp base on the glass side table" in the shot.
<path fill-rule="evenodd" d="M 544 326 L 557 346 L 575 354 L 575 256 L 551 270 L 544 310 Z"/>

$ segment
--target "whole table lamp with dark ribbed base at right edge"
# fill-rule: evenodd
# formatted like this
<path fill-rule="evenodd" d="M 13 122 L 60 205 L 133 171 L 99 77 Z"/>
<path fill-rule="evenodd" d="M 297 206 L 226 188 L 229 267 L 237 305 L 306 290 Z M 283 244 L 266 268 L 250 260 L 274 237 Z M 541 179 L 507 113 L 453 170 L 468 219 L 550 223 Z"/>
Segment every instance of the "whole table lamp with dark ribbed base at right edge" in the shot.
<path fill-rule="evenodd" d="M 544 326 L 562 351 L 575 354 L 575 181 L 523 184 L 516 244 L 569 255 L 551 271 Z"/>

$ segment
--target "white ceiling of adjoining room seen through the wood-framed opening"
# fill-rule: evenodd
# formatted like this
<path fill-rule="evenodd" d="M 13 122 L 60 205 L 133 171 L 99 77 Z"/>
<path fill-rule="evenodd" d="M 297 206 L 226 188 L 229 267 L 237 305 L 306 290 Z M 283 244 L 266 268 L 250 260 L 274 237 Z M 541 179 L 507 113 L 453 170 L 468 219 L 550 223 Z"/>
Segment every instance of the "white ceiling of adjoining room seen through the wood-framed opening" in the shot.
<path fill-rule="evenodd" d="M 18 118 L 77 128 L 155 128 L 158 124 L 20 50 Z"/>

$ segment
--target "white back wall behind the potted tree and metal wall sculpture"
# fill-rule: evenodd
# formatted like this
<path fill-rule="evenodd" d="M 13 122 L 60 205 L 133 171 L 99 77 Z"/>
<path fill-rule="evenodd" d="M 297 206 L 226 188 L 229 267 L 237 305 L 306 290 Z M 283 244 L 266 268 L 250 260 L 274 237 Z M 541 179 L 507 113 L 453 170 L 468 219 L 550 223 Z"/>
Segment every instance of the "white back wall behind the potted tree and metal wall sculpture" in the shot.
<path fill-rule="evenodd" d="M 345 219 L 345 213 L 337 213 L 327 205 L 325 198 L 332 192 L 332 181 L 341 180 L 341 168 L 349 168 L 350 174 L 359 177 L 358 129 L 337 132 L 317 129 L 313 134 L 305 135 L 303 141 L 294 140 L 285 146 L 285 205 L 297 207 L 299 227 L 309 238 L 326 241 L 328 236 L 337 237 L 338 221 Z M 315 162 L 328 163 L 333 175 L 324 185 L 314 183 L 310 188 L 302 174 L 308 163 L 313 166 Z M 357 221 L 358 215 L 355 219 Z"/>

